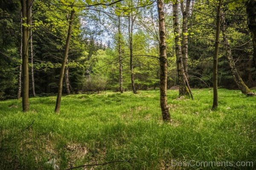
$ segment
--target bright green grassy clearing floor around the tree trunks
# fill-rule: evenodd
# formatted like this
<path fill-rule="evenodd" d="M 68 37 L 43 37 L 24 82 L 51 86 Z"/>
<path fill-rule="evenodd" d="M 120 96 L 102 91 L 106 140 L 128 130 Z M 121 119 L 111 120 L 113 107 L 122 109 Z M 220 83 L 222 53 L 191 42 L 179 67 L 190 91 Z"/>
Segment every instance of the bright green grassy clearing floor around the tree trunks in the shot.
<path fill-rule="evenodd" d="M 172 167 L 175 161 L 252 161 L 256 167 L 256 98 L 219 89 L 219 108 L 211 111 L 212 89 L 193 89 L 194 100 L 177 100 L 168 91 L 172 123 L 163 123 L 159 91 L 104 92 L 0 102 L 0 170 L 206 169 Z M 175 160 L 175 161 L 174 161 Z M 48 163 L 47 163 L 48 161 Z M 56 166 L 55 166 L 56 167 Z M 54 168 L 52 168 L 54 169 Z M 209 169 L 225 169 L 213 166 Z M 235 169 L 235 167 L 226 167 Z"/>

